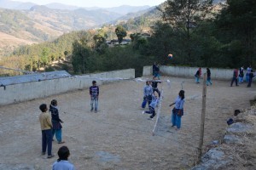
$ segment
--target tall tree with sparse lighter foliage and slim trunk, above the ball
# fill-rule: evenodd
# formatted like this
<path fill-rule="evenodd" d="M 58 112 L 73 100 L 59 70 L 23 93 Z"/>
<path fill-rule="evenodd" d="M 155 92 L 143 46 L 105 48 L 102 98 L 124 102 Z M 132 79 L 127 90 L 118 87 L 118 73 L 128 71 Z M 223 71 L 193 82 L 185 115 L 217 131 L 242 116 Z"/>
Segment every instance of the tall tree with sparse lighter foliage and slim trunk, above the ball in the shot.
<path fill-rule="evenodd" d="M 191 35 L 211 11 L 212 0 L 168 0 L 162 11 L 163 19 L 170 24 L 186 48 L 187 59 L 193 59 Z M 191 60 L 192 62 L 192 60 Z"/>

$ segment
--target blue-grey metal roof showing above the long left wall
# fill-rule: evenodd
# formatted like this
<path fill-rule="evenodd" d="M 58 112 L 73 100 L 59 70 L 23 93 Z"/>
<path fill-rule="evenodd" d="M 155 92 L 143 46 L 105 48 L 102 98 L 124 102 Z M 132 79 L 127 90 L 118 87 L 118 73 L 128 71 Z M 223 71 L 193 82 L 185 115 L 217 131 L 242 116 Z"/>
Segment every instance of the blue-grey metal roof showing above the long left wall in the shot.
<path fill-rule="evenodd" d="M 40 82 L 55 78 L 71 77 L 67 71 L 51 71 L 34 73 L 30 75 L 22 75 L 16 77 L 0 77 L 0 86 L 8 86 L 11 84 L 20 84 L 24 82 Z"/>

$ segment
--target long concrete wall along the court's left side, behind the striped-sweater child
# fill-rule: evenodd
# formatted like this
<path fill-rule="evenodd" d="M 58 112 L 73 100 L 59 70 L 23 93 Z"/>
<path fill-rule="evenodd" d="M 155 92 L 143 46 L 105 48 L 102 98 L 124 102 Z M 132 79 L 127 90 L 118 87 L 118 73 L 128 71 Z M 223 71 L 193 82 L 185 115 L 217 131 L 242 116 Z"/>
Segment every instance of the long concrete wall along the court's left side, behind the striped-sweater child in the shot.
<path fill-rule="evenodd" d="M 26 82 L 0 88 L 0 105 L 8 105 L 30 99 L 44 98 L 53 94 L 89 88 L 96 80 L 98 85 L 119 81 L 119 78 L 135 78 L 135 70 L 108 71 L 84 76 L 58 78 L 41 82 Z M 108 80 L 105 80 L 108 79 Z"/>

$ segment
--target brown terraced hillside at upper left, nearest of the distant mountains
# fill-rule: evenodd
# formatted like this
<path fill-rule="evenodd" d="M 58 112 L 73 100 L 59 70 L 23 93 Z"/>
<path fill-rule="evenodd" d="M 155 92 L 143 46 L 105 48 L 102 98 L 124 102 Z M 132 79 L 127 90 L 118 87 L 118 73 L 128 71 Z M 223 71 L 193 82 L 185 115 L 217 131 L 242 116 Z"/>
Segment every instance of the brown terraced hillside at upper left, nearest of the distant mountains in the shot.
<path fill-rule="evenodd" d="M 70 11 L 33 6 L 30 10 L 0 8 L 0 16 L 0 54 L 4 54 L 17 45 L 51 41 L 65 32 L 101 26 L 121 15 L 102 9 Z"/>

